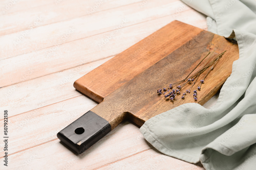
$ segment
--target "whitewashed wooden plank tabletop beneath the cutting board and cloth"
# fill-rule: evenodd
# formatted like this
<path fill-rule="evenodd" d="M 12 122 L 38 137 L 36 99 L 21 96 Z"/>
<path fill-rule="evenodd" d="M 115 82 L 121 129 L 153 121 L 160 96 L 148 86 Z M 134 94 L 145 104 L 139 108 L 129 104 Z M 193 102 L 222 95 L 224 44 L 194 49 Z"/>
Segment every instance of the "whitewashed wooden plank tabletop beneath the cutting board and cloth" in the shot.
<path fill-rule="evenodd" d="M 79 156 L 56 134 L 98 104 L 74 89 L 75 80 L 175 19 L 207 29 L 205 16 L 179 0 L 2 0 L 0 7 L 0 169 L 204 169 L 161 154 L 129 121 Z"/>

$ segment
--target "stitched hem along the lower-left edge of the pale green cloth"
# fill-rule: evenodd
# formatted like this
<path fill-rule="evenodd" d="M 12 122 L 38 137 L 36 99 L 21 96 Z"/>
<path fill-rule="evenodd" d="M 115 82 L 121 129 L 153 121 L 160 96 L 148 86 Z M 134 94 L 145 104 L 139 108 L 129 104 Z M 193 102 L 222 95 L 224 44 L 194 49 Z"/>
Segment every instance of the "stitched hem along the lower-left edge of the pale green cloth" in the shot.
<path fill-rule="evenodd" d="M 158 140 L 156 140 L 156 138 L 154 137 L 153 134 L 151 134 L 150 132 L 148 132 L 148 130 L 142 126 L 140 128 L 140 132 L 142 133 L 142 135 L 144 136 L 144 138 L 153 146 L 155 147 L 158 151 L 168 155 L 168 156 L 172 156 L 174 158 L 189 162 L 189 163 L 197 163 L 200 162 L 199 158 L 194 158 L 191 157 L 189 155 L 184 155 L 183 153 L 178 153 L 172 150 L 167 149 L 161 142 L 159 142 Z"/>

